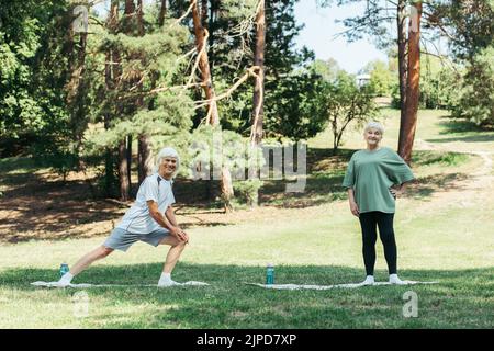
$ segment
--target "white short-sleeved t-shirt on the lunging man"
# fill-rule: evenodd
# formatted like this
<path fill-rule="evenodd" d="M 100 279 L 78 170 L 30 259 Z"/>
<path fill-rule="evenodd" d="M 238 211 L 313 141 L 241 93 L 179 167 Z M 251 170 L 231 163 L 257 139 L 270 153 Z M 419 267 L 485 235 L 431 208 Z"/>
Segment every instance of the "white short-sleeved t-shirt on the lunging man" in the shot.
<path fill-rule="evenodd" d="M 159 212 L 165 214 L 167 208 L 175 203 L 171 183 L 158 173 L 146 177 L 137 191 L 135 203 L 127 210 L 116 227 L 134 234 L 149 234 L 157 229 L 166 229 L 149 215 L 147 201 L 155 201 Z"/>

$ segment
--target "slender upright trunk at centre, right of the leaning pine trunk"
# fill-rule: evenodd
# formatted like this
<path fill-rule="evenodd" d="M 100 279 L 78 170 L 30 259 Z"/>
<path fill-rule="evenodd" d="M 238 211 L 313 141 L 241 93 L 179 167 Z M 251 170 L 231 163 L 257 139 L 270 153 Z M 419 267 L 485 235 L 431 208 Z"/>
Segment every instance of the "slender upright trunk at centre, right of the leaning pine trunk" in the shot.
<path fill-rule="evenodd" d="M 260 1 L 259 12 L 256 16 L 256 52 L 254 65 L 259 67 L 254 87 L 252 127 L 250 131 L 250 144 L 258 146 L 262 140 L 262 120 L 265 103 L 265 47 L 266 47 L 266 16 L 265 0 Z"/>

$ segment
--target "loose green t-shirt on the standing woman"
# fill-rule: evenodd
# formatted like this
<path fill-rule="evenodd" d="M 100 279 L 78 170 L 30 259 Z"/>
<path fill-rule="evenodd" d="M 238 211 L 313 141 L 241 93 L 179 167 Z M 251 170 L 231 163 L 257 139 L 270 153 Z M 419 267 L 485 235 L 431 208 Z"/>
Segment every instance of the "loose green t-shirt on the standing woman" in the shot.
<path fill-rule="evenodd" d="M 389 147 L 377 151 L 359 150 L 351 156 L 343 182 L 353 188 L 359 212 L 380 211 L 394 213 L 395 200 L 390 192 L 393 184 L 400 185 L 413 180 L 408 165 Z"/>

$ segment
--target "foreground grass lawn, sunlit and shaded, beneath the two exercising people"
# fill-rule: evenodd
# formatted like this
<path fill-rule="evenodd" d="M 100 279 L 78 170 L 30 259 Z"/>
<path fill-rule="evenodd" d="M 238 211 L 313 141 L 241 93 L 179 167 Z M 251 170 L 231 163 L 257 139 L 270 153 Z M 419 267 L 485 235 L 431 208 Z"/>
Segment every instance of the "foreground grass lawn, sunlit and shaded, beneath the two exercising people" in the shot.
<path fill-rule="evenodd" d="M 319 208 L 323 210 L 323 208 Z M 0 248 L 0 328 L 492 328 L 494 327 L 493 226 L 472 231 L 475 208 L 396 223 L 401 275 L 436 285 L 358 290 L 269 291 L 267 262 L 277 283 L 335 284 L 363 278 L 357 222 L 343 206 L 323 216 L 284 223 L 191 229 L 191 245 L 177 265 L 178 281 L 211 286 L 87 288 L 89 315 L 74 315 L 77 290 L 30 285 L 57 279 L 102 238 L 25 242 Z M 493 211 L 494 208 L 486 208 Z M 407 219 L 405 222 L 405 219 Z M 453 229 L 452 229 L 453 228 Z M 470 230 L 470 233 L 469 233 Z M 378 246 L 377 279 L 385 280 Z M 153 284 L 166 248 L 137 244 L 81 273 L 75 282 Z M 418 295 L 418 317 L 405 318 L 403 294 Z"/>

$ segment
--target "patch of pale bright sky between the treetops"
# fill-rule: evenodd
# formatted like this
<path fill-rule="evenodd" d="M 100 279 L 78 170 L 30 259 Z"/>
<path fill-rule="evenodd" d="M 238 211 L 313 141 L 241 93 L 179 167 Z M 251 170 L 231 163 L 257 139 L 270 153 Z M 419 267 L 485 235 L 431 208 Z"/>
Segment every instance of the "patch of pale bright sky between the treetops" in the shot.
<path fill-rule="evenodd" d="M 330 8 L 317 7 L 317 0 L 300 0 L 294 8 L 299 24 L 305 27 L 296 38 L 299 47 L 306 46 L 315 53 L 316 58 L 337 60 L 339 67 L 348 72 L 357 73 L 367 63 L 375 59 L 388 61 L 384 52 L 380 52 L 370 42 L 361 39 L 347 43 L 345 37 L 334 38 L 334 35 L 345 30 L 343 23 L 335 20 L 344 20 L 361 14 L 362 3 Z"/>

